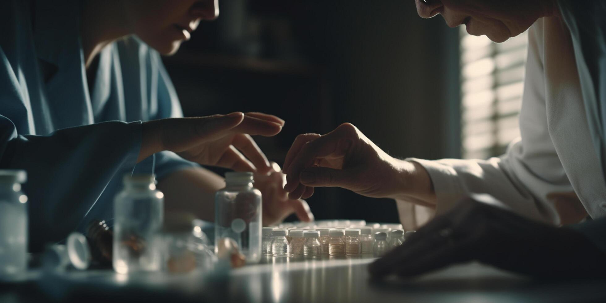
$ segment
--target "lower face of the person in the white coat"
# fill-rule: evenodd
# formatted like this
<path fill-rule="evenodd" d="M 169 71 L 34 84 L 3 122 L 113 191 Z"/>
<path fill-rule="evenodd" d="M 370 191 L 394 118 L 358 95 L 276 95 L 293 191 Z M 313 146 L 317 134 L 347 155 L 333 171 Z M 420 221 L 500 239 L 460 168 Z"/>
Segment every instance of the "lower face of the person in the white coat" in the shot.
<path fill-rule="evenodd" d="M 449 27 L 465 24 L 470 35 L 494 42 L 517 36 L 549 15 L 553 0 L 415 0 L 421 18 L 442 15 Z"/>

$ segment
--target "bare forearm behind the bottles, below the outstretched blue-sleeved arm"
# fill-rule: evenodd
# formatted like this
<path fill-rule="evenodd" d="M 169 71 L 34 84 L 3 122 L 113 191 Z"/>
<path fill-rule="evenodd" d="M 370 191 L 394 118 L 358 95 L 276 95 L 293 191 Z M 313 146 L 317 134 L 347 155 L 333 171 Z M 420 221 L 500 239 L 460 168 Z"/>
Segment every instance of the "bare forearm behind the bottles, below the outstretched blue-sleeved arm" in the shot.
<path fill-rule="evenodd" d="M 158 182 L 165 212 L 188 212 L 205 221 L 214 221 L 215 191 L 223 187 L 221 176 L 201 167 L 175 171 Z"/>

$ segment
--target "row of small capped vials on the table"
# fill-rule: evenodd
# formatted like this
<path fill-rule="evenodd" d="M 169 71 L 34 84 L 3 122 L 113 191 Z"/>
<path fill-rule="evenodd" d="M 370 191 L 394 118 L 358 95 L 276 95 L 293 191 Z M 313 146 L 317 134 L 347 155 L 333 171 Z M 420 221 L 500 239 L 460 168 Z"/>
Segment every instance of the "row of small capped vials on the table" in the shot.
<path fill-rule="evenodd" d="M 402 245 L 402 229 L 264 227 L 262 253 L 268 256 L 382 256 Z M 410 236 L 415 231 L 408 231 Z M 374 234 L 374 235 L 373 235 Z"/>

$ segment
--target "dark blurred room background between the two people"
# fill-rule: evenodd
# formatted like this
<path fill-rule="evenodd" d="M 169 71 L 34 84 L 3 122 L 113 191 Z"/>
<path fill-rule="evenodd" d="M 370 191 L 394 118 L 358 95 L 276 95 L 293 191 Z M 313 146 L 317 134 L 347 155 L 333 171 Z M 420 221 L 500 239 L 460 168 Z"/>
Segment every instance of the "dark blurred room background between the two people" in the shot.
<path fill-rule="evenodd" d="M 255 138 L 282 164 L 300 133 L 343 122 L 398 158 L 458 158 L 458 30 L 421 19 L 412 0 L 224 0 L 214 22 L 165 58 L 185 116 L 265 112 L 285 119 Z M 221 171 L 219 171 L 221 172 Z M 318 188 L 316 219 L 396 222 L 390 199 Z M 290 219 L 295 219 L 291 216 Z"/>

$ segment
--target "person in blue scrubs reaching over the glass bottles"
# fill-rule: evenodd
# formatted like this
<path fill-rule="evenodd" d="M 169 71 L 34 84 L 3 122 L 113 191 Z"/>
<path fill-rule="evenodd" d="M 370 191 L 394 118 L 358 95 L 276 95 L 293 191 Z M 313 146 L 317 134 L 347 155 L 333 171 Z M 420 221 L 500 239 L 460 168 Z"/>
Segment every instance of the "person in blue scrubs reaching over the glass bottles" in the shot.
<path fill-rule="evenodd" d="M 0 5 L 0 168 L 24 169 L 30 251 L 111 221 L 127 173 L 155 173 L 167 211 L 213 219 L 224 186 L 202 168 L 255 171 L 264 224 L 295 212 L 279 167 L 250 135 L 284 121 L 263 113 L 181 118 L 161 55 L 175 53 L 218 0 L 7 0 Z M 269 197 L 269 198 L 265 198 Z"/>

